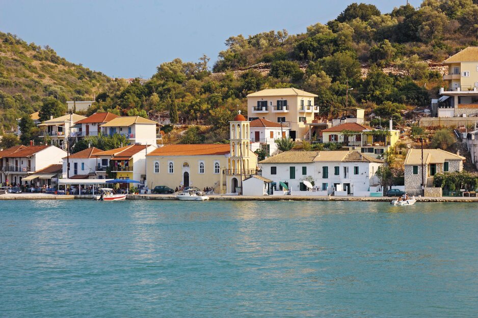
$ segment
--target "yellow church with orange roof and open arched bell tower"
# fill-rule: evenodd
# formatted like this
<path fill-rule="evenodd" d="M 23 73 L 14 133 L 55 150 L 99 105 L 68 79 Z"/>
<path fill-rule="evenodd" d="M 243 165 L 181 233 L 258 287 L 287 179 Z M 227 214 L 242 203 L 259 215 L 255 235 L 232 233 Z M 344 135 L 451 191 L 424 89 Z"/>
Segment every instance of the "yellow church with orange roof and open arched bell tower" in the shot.
<path fill-rule="evenodd" d="M 218 194 L 241 194 L 242 181 L 257 173 L 251 151 L 250 122 L 239 113 L 229 122 L 229 144 L 171 144 L 146 155 L 146 184 L 213 188 Z"/>

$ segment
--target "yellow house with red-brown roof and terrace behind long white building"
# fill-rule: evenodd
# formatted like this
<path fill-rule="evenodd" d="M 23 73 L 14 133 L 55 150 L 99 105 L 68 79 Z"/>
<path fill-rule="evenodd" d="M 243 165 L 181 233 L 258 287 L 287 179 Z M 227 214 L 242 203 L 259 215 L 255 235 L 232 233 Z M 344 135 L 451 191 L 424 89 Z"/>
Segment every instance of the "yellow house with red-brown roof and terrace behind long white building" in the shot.
<path fill-rule="evenodd" d="M 359 150 L 363 154 L 381 157 L 400 138 L 400 131 L 379 130 L 357 123 L 345 123 L 321 131 L 323 142 L 341 142 L 348 150 Z"/>

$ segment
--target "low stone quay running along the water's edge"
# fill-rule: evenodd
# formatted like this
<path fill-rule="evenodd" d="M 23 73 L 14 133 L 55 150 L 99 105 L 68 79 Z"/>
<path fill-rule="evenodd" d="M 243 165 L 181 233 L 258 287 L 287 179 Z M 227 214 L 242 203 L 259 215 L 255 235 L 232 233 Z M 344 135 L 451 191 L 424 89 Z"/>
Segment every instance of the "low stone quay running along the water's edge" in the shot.
<path fill-rule="evenodd" d="M 210 200 L 216 201 L 375 201 L 390 202 L 391 197 L 371 197 L 371 196 L 297 196 L 297 195 L 208 195 Z M 91 195 L 55 195 L 44 193 L 20 193 L 20 194 L 2 194 L 0 200 L 43 200 L 43 199 L 91 199 Z M 175 200 L 175 195 L 170 194 L 130 194 L 129 200 Z M 478 197 L 416 197 L 418 202 L 465 202 L 477 203 Z"/>

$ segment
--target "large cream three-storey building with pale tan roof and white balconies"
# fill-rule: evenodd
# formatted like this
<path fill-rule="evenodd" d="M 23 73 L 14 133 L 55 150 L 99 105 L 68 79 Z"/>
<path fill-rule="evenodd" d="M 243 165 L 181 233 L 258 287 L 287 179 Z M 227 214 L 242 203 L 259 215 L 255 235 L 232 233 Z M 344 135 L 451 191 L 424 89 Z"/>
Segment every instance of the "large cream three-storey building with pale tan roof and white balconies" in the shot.
<path fill-rule="evenodd" d="M 267 89 L 247 95 L 249 121 L 267 119 L 290 127 L 289 135 L 293 139 L 309 139 L 309 127 L 318 106 L 314 106 L 314 97 L 295 88 Z"/>

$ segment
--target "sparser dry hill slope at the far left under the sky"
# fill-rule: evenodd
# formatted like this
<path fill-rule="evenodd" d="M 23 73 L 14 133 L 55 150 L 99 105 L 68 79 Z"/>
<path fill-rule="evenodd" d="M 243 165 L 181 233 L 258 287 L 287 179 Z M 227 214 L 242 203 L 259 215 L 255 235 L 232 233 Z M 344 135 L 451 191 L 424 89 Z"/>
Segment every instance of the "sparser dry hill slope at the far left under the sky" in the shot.
<path fill-rule="evenodd" d="M 46 46 L 0 32 L 0 125 L 9 128 L 25 113 L 39 110 L 42 98 L 91 100 L 111 79 L 66 61 Z"/>

